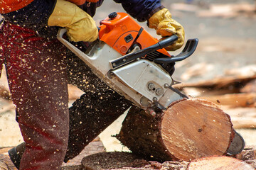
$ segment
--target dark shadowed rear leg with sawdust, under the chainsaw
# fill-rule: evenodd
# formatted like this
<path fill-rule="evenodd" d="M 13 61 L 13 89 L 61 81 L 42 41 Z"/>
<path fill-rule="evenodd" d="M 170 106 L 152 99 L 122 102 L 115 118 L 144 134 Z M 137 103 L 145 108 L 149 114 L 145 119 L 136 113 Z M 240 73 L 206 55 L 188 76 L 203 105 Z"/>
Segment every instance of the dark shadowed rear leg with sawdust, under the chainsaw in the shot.
<path fill-rule="evenodd" d="M 108 87 L 73 53 L 67 55 L 68 80 L 85 92 L 70 111 L 70 133 L 65 162 L 80 154 L 100 132 L 132 103 Z"/>

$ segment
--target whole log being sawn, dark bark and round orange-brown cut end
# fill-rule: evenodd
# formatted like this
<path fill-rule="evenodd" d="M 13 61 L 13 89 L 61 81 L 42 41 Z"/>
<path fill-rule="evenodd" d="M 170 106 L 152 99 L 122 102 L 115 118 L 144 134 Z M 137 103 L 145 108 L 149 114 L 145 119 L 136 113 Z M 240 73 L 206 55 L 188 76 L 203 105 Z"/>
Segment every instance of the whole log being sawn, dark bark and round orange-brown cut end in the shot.
<path fill-rule="evenodd" d="M 172 103 L 155 117 L 131 108 L 117 139 L 144 159 L 198 159 L 226 153 L 233 140 L 230 116 L 202 99 Z"/>

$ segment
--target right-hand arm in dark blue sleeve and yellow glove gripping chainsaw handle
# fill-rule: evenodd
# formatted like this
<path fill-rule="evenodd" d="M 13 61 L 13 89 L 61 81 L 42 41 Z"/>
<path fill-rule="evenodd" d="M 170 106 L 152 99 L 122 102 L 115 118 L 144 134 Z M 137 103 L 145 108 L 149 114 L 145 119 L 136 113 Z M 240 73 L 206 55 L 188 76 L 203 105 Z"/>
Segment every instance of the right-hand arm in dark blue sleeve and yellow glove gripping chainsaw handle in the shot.
<path fill-rule="evenodd" d="M 114 0 L 121 3 L 137 21 L 147 21 L 149 28 L 156 29 L 156 33 L 163 38 L 173 34 L 178 35 L 178 40 L 166 50 L 177 50 L 184 43 L 185 33 L 183 27 L 171 18 L 171 13 L 161 5 L 160 0 Z"/>

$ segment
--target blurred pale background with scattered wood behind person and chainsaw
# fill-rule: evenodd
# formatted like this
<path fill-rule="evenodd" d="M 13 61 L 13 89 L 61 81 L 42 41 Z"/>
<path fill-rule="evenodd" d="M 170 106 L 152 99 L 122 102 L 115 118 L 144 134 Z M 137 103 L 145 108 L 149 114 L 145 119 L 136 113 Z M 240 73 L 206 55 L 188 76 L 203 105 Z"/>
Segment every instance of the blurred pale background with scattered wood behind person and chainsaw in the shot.
<path fill-rule="evenodd" d="M 186 40 L 199 39 L 196 52 L 176 63 L 173 78 L 182 82 L 177 88 L 188 96 L 217 103 L 231 116 L 234 128 L 245 138 L 246 145 L 256 145 L 255 1 L 163 0 L 162 4 L 184 27 Z M 94 17 L 97 25 L 114 11 L 124 12 L 120 4 L 105 0 Z M 146 23 L 140 24 L 160 38 Z M 181 50 L 170 53 L 177 55 Z M 0 147 L 9 147 L 23 140 L 9 99 L 5 72 L 2 72 L 0 85 Z M 69 89 L 72 104 L 82 91 L 74 86 Z M 108 151 L 124 149 L 111 137 L 119 131 L 123 118 L 124 115 L 100 135 Z"/>

